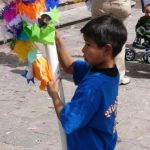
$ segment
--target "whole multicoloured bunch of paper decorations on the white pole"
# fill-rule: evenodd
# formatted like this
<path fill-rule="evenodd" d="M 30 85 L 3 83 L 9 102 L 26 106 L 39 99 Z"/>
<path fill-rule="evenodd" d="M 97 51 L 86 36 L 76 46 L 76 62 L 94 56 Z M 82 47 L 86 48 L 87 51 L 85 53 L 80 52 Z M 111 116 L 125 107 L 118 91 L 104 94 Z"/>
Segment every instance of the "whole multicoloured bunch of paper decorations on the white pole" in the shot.
<path fill-rule="evenodd" d="M 0 12 L 0 17 L 7 22 L 7 28 L 14 36 L 10 46 L 19 60 L 28 58 L 29 68 L 22 76 L 34 83 L 34 78 L 41 81 L 39 88 L 45 90 L 52 80 L 48 61 L 38 51 L 33 42 L 53 45 L 55 43 L 55 22 L 59 15 L 56 7 L 60 0 L 15 0 L 7 3 Z M 50 10 L 49 14 L 41 13 Z"/>

